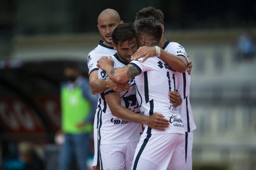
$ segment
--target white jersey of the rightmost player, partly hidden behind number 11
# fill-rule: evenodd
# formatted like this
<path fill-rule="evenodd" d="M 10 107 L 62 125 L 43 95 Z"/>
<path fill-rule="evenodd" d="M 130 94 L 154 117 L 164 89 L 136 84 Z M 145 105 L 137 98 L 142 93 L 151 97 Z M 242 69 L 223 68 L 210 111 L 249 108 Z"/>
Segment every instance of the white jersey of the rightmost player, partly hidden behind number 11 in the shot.
<path fill-rule="evenodd" d="M 183 56 L 187 60 L 187 54 L 185 49 L 177 42 L 167 41 L 163 46 L 163 50 L 170 54 Z M 186 132 L 190 132 L 196 129 L 195 121 L 192 114 L 192 109 L 189 101 L 190 95 L 190 75 L 186 71 L 185 73 L 176 72 L 177 74 L 177 91 L 180 93 L 183 102 L 177 109 L 180 111 L 180 116 L 184 124 Z"/>

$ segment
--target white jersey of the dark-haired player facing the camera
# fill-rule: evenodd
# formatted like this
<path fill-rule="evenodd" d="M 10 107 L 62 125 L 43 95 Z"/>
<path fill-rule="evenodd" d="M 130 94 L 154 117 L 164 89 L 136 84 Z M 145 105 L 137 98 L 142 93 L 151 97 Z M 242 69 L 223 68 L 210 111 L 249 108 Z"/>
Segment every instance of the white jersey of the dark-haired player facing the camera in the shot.
<path fill-rule="evenodd" d="M 112 56 L 114 60 L 114 67 L 124 67 L 125 63 L 119 59 L 117 54 Z M 105 71 L 99 69 L 99 79 L 109 78 Z M 136 85 L 134 79 L 130 79 L 128 83 L 131 84 L 130 91 L 120 93 L 121 105 L 125 108 L 140 114 L 140 108 L 136 99 Z M 140 140 L 140 133 L 142 133 L 142 125 L 140 123 L 131 122 L 113 116 L 110 108 L 105 100 L 105 95 L 113 93 L 112 89 L 108 89 L 101 94 L 100 99 L 100 113 L 99 113 L 99 144 L 117 144 L 128 143 Z"/>

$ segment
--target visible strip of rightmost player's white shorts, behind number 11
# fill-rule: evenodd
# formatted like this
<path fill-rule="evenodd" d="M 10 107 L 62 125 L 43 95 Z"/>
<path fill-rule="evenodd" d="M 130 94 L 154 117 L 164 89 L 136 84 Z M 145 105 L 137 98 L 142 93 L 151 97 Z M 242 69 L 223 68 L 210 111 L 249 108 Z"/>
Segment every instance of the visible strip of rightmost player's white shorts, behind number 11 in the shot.
<path fill-rule="evenodd" d="M 193 147 L 194 131 L 186 132 L 186 170 L 192 170 L 192 147 Z"/>

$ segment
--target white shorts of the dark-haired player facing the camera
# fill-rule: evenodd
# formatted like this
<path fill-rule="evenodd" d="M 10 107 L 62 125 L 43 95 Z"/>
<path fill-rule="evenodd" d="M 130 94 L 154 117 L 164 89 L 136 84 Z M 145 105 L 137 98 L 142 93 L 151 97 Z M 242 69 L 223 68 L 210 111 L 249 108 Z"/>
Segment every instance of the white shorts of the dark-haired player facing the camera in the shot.
<path fill-rule="evenodd" d="M 131 170 L 131 162 L 134 156 L 137 142 L 124 144 L 100 145 L 100 158 L 103 170 Z"/>

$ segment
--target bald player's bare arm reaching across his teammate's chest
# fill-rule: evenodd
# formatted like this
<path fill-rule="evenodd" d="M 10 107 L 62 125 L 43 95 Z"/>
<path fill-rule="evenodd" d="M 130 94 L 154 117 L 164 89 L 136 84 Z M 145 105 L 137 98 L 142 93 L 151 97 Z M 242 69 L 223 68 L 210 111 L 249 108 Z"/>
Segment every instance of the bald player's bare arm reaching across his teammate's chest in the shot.
<path fill-rule="evenodd" d="M 117 83 L 111 79 L 98 79 L 98 70 L 95 70 L 89 75 L 89 85 L 92 94 L 99 94 L 104 92 L 108 88 L 112 88 L 114 91 L 128 91 L 131 89 L 129 83 Z"/>

